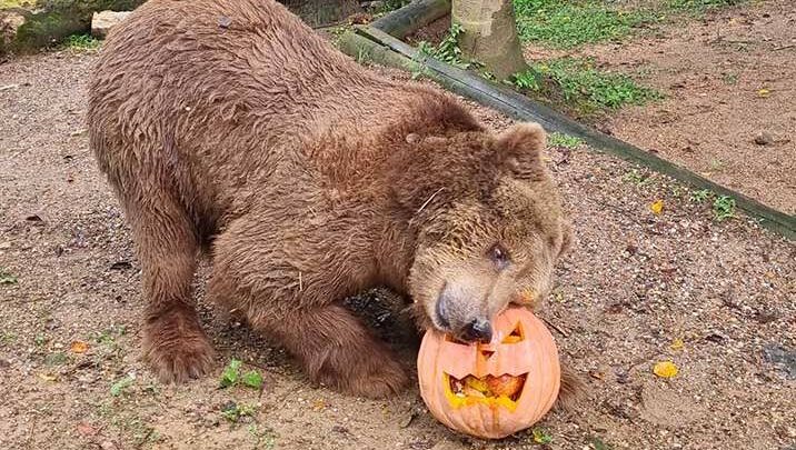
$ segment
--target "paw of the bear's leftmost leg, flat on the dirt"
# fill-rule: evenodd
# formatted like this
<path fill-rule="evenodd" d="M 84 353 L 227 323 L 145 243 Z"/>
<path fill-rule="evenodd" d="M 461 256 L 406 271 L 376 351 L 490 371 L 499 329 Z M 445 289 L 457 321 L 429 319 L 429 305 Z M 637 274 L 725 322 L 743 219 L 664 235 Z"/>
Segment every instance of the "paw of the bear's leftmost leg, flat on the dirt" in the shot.
<path fill-rule="evenodd" d="M 212 357 L 212 347 L 196 314 L 169 313 L 145 330 L 143 359 L 160 382 L 200 378 L 210 369 Z"/>

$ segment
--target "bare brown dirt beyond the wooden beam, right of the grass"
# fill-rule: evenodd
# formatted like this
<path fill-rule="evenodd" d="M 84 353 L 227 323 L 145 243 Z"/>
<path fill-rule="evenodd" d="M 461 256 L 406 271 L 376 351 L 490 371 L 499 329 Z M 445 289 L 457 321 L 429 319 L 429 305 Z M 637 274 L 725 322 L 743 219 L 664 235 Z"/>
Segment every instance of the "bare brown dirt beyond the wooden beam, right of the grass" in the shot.
<path fill-rule="evenodd" d="M 795 2 L 677 18 L 623 43 L 569 52 L 526 48 L 528 59 L 564 54 L 594 57 L 666 96 L 611 114 L 604 131 L 796 213 Z"/>

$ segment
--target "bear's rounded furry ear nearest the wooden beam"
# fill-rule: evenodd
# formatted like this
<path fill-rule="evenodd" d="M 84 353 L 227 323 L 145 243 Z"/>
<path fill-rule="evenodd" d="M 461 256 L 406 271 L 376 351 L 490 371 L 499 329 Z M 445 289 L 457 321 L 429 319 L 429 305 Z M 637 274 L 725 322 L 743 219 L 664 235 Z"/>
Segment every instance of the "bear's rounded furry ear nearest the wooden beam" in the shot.
<path fill-rule="evenodd" d="M 540 124 L 517 123 L 498 136 L 497 153 L 515 177 L 533 179 L 539 176 L 541 150 L 546 144 L 547 133 Z"/>

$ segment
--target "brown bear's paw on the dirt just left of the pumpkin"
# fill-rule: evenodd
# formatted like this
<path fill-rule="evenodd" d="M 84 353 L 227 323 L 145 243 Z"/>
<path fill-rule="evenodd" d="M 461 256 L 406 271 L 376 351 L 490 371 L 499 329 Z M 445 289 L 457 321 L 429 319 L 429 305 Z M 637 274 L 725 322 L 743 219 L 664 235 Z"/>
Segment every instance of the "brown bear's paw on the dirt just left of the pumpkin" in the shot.
<path fill-rule="evenodd" d="M 409 383 L 406 370 L 380 344 L 327 349 L 322 360 L 309 361 L 314 381 L 354 396 L 380 399 Z M 312 370 L 315 366 L 315 370 Z"/>

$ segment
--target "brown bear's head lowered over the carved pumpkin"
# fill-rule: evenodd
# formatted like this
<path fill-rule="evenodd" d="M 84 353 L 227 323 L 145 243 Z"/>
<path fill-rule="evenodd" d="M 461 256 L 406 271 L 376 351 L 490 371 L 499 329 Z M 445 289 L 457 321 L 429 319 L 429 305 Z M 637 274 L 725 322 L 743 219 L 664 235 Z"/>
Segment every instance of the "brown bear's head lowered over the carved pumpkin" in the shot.
<path fill-rule="evenodd" d="M 421 327 L 464 341 L 489 341 L 491 319 L 509 303 L 549 293 L 570 228 L 541 161 L 546 134 L 519 123 L 406 138 L 415 170 L 396 182 L 417 231 L 406 282 Z M 422 176 L 418 176 L 422 173 Z"/>

